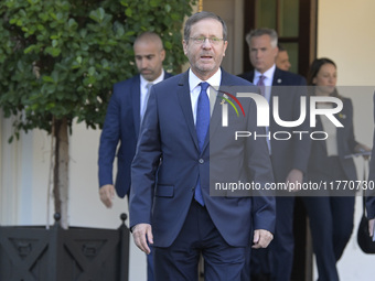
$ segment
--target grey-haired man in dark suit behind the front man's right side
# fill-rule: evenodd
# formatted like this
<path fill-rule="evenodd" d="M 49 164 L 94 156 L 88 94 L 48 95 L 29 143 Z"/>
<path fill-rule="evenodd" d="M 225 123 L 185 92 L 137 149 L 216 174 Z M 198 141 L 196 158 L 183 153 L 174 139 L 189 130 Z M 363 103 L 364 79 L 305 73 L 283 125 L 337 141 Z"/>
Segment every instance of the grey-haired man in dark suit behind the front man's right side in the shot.
<path fill-rule="evenodd" d="M 281 120 L 294 121 L 300 117 L 300 98 L 306 95 L 306 79 L 289 72 L 276 67 L 275 60 L 278 54 L 278 36 L 275 30 L 258 29 L 246 35 L 249 46 L 250 62 L 254 72 L 244 73 L 240 77 L 258 85 L 261 94 L 274 106 L 274 97 L 278 97 L 278 109 Z M 272 133 L 287 131 L 292 137 L 290 140 L 277 140 Z M 310 131 L 308 118 L 297 128 L 279 126 L 272 116 L 268 145 L 274 167 L 275 181 L 278 183 L 302 183 L 307 171 L 311 141 L 308 138 L 300 140 L 292 131 Z M 271 275 L 271 280 L 289 281 L 293 262 L 293 206 L 294 197 L 288 194 L 279 194 L 276 197 L 276 230 L 275 239 L 266 250 L 254 251 L 251 267 L 253 280 L 259 275 Z M 261 277 L 264 278 L 264 277 Z"/>

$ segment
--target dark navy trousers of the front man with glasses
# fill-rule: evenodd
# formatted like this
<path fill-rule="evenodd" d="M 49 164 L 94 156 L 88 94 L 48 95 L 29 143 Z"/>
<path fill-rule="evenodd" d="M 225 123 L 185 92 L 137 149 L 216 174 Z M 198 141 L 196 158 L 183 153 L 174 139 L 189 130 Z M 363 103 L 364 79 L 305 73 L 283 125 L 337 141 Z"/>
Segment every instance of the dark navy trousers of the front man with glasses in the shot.
<path fill-rule="evenodd" d="M 174 242 L 168 248 L 153 247 L 154 278 L 156 281 L 195 281 L 202 255 L 204 280 L 240 281 L 246 251 L 246 247 L 229 246 L 215 227 L 206 207 L 193 199 Z"/>

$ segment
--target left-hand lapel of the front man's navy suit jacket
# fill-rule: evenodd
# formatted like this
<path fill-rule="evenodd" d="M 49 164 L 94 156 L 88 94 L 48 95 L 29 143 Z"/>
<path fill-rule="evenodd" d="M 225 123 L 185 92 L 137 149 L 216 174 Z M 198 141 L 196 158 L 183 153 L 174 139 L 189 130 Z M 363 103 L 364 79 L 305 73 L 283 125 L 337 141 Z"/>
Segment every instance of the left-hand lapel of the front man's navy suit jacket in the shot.
<path fill-rule="evenodd" d="M 179 98 L 181 110 L 185 117 L 185 121 L 186 121 L 190 134 L 192 136 L 192 139 L 194 141 L 196 149 L 200 150 L 199 144 L 197 144 L 196 130 L 194 126 L 192 101 L 190 97 L 189 71 L 182 75 L 181 80 L 179 82 L 178 98 Z"/>

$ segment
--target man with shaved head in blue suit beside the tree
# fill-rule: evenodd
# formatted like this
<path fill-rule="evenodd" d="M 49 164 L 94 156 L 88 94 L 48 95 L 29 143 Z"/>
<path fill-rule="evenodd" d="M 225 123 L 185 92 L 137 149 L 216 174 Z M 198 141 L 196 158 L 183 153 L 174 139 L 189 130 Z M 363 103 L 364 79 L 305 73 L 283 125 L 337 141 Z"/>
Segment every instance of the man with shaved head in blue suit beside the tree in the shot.
<path fill-rule="evenodd" d="M 140 34 L 135 41 L 133 50 L 139 74 L 115 84 L 100 136 L 99 195 L 100 201 L 108 208 L 113 206 L 115 186 L 119 197 L 129 195 L 130 164 L 136 153 L 149 87 L 171 76 L 162 66 L 165 51 L 158 34 L 153 32 Z M 118 172 L 114 186 L 113 165 L 116 153 Z M 148 264 L 148 280 L 153 280 L 151 258 Z"/>

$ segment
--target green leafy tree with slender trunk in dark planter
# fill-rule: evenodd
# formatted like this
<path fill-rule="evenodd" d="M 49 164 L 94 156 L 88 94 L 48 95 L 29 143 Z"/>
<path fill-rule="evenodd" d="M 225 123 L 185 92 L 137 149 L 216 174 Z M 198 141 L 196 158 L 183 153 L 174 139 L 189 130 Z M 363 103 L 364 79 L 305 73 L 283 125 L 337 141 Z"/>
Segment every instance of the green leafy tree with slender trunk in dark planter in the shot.
<path fill-rule="evenodd" d="M 34 128 L 54 137 L 53 192 L 63 227 L 73 120 L 93 129 L 103 125 L 114 83 L 137 72 L 132 42 L 144 31 L 161 35 L 164 66 L 179 73 L 183 19 L 194 2 L 0 1 L 0 108 L 14 116 L 15 137 Z"/>

